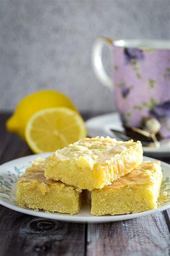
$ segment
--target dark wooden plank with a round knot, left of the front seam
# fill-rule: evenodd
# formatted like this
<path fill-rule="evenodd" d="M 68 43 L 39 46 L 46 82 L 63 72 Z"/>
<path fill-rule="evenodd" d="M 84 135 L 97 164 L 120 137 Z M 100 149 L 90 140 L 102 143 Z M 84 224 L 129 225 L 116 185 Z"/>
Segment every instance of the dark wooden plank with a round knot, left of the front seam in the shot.
<path fill-rule="evenodd" d="M 84 224 L 0 210 L 0 255 L 84 255 Z"/>

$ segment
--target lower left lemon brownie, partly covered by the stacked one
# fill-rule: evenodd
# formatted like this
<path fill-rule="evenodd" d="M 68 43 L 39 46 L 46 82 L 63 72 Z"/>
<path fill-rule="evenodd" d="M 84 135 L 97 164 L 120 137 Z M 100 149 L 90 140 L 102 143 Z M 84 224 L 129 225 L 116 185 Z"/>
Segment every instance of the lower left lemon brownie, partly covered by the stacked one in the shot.
<path fill-rule="evenodd" d="M 46 180 L 44 161 L 33 161 L 16 184 L 16 203 L 32 209 L 76 214 L 84 201 L 80 188 L 66 185 L 61 181 Z"/>

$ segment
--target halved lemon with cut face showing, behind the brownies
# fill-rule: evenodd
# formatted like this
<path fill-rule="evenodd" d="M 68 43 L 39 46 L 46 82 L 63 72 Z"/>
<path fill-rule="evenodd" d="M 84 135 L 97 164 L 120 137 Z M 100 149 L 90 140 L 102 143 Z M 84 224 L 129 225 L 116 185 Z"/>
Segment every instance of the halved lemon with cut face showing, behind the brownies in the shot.
<path fill-rule="evenodd" d="M 34 153 L 52 152 L 86 136 L 85 123 L 69 108 L 42 109 L 27 122 L 25 138 Z"/>

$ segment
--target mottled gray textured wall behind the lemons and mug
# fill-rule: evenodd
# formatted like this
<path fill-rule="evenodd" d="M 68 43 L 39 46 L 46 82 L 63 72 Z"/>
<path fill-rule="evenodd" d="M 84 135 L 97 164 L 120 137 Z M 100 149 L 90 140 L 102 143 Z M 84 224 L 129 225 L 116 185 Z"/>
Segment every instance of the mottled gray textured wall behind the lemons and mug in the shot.
<path fill-rule="evenodd" d="M 53 88 L 80 111 L 114 109 L 91 68 L 99 35 L 169 39 L 168 0 L 0 0 L 0 109 Z M 104 51 L 109 70 L 108 51 Z"/>

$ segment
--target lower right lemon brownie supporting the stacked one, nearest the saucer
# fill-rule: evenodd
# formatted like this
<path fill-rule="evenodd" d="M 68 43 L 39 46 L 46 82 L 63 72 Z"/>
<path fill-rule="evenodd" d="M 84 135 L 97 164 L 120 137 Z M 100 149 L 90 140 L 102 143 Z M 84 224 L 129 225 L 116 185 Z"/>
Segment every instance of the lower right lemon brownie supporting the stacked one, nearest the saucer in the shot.
<path fill-rule="evenodd" d="M 129 214 L 152 210 L 162 184 L 159 161 L 144 161 L 132 172 L 103 189 L 91 192 L 91 214 Z"/>

